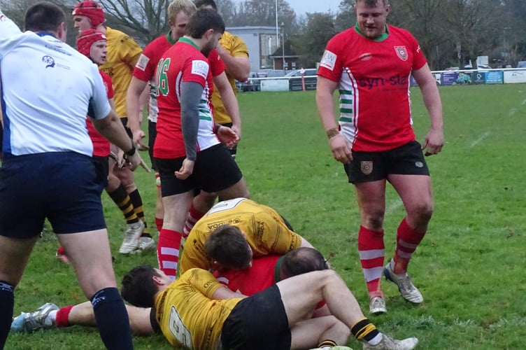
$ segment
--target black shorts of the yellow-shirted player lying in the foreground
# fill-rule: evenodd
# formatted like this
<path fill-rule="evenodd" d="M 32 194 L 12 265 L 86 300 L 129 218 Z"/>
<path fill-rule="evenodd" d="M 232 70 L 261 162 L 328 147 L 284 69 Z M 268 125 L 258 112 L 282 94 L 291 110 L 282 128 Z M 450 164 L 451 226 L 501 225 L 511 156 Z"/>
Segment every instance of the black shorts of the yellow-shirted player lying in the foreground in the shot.
<path fill-rule="evenodd" d="M 289 323 L 278 286 L 239 302 L 227 317 L 221 332 L 223 349 L 290 349 Z"/>

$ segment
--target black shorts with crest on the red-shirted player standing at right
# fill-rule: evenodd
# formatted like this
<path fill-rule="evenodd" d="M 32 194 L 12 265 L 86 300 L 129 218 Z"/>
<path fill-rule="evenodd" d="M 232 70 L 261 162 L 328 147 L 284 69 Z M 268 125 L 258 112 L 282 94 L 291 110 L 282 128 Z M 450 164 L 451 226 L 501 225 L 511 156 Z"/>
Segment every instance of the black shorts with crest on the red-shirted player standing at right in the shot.
<path fill-rule="evenodd" d="M 353 152 L 353 160 L 343 165 L 350 183 L 387 179 L 390 174 L 427 175 L 429 169 L 417 141 L 383 152 Z"/>

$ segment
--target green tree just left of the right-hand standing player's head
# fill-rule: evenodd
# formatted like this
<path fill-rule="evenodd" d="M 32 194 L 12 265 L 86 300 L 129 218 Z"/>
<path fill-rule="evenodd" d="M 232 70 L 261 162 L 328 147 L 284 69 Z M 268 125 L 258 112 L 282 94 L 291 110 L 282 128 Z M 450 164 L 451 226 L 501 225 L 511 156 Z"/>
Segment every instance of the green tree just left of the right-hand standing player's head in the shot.
<path fill-rule="evenodd" d="M 334 18 L 330 13 L 307 13 L 304 33 L 294 38 L 294 50 L 299 55 L 299 64 L 314 67 L 320 62 L 327 42 L 336 35 Z"/>

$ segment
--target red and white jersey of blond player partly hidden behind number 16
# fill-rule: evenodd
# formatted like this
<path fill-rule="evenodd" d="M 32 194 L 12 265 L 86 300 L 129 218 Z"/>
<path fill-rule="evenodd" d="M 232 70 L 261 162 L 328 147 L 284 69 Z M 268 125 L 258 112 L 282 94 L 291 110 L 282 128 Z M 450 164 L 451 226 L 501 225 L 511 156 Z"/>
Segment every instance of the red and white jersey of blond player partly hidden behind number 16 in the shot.
<path fill-rule="evenodd" d="M 134 77 L 148 81 L 150 83 L 150 99 L 148 101 L 148 119 L 153 123 L 157 122 L 157 95 L 155 94 L 155 68 L 166 50 L 176 43 L 170 36 L 170 31 L 166 35 L 159 36 L 154 41 L 146 45 L 141 57 L 139 57 L 134 68 Z"/>

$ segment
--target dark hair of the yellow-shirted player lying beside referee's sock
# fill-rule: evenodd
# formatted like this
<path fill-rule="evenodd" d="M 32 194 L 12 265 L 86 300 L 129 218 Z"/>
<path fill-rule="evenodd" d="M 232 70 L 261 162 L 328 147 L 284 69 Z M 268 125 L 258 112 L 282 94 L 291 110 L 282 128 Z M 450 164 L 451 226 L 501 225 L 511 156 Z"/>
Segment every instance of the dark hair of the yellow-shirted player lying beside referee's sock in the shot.
<path fill-rule="evenodd" d="M 138 266 L 122 278 L 120 294 L 122 298 L 136 307 L 153 307 L 153 297 L 159 289 L 152 277 L 159 276 L 151 266 Z"/>

